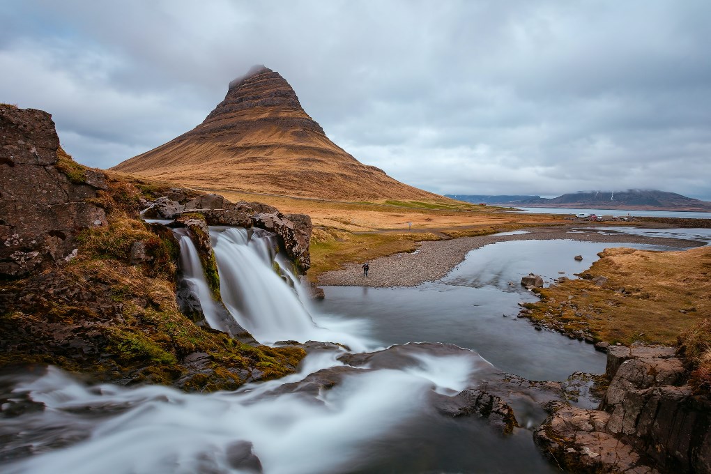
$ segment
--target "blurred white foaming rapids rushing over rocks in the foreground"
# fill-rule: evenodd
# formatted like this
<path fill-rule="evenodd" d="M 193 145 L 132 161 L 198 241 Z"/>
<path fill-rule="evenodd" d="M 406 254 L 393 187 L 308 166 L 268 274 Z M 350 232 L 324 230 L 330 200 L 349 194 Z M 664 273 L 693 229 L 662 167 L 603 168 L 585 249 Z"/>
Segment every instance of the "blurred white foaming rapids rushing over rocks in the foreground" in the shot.
<path fill-rule="evenodd" d="M 298 374 L 239 392 L 186 394 L 160 386 L 86 386 L 50 367 L 16 385 L 46 410 L 8 419 L 0 433 L 32 438 L 38 451 L 57 440 L 58 427 L 84 438 L 63 449 L 5 465 L 5 473 L 247 473 L 231 451 L 251 443 L 265 473 L 351 472 L 372 463 L 363 446 L 407 443 L 402 426 L 427 415 L 427 393 L 456 393 L 475 372 L 476 355 L 415 353 L 410 368 L 361 370 L 318 394 L 270 393 L 321 368 L 343 365 L 333 353 L 310 355 Z M 486 429 L 486 428 L 484 428 Z M 493 435 L 496 436 L 496 435 Z M 402 439 L 404 438 L 404 439 Z M 387 441 L 390 440 L 390 441 Z M 385 449 L 387 453 L 387 449 Z M 383 453 L 379 453 L 383 456 Z"/>

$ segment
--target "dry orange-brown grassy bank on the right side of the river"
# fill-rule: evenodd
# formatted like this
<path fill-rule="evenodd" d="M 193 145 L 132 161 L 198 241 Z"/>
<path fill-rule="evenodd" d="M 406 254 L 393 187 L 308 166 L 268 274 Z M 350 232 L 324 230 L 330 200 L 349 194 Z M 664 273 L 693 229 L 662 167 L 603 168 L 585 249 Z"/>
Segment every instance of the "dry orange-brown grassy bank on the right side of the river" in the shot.
<path fill-rule="evenodd" d="M 685 252 L 606 249 L 585 272 L 542 289 L 533 321 L 562 323 L 611 343 L 673 345 L 680 333 L 711 317 L 711 247 Z M 594 276 L 608 280 L 597 286 Z"/>

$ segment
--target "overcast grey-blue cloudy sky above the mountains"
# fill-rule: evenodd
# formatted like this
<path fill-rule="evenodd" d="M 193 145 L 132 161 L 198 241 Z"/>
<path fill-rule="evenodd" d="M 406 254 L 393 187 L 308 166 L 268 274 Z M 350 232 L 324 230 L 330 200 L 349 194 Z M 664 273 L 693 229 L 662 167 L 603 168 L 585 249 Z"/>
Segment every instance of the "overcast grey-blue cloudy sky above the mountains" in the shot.
<path fill-rule="evenodd" d="M 0 102 L 109 168 L 252 65 L 362 163 L 440 194 L 711 200 L 711 2 L 0 2 Z"/>

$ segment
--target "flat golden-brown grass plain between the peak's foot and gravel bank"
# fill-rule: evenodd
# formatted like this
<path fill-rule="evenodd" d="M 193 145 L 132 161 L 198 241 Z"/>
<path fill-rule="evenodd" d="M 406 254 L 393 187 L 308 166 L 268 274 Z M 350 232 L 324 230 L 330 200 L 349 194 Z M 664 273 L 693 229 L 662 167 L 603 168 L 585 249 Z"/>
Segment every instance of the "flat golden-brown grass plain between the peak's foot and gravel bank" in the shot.
<path fill-rule="evenodd" d="M 309 269 L 311 281 L 349 262 L 412 252 L 417 249 L 417 242 L 420 241 L 488 235 L 531 225 L 560 225 L 567 222 L 550 215 L 501 212 L 501 208 L 454 200 L 349 203 L 235 193 L 223 189 L 211 191 L 232 201 L 267 203 L 285 214 L 310 215 L 314 224 Z M 412 230 L 408 222 L 412 222 Z"/>

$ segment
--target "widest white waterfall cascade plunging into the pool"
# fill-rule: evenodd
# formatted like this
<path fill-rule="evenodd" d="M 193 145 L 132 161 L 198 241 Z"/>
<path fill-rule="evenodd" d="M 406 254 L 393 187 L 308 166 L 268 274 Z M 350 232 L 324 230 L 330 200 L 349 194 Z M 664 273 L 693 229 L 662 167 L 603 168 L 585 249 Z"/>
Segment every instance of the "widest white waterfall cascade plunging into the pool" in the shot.
<path fill-rule="evenodd" d="M 321 340 L 343 343 L 358 351 L 374 347 L 367 338 L 352 332 L 359 325 L 362 327 L 358 321 L 347 328 L 336 324 L 324 327 L 314 322 L 302 303 L 308 299 L 306 290 L 287 261 L 277 254 L 273 235 L 255 231 L 250 237 L 240 227 L 211 227 L 210 237 L 223 303 L 235 321 L 260 343 Z M 279 274 L 273 264 L 278 266 Z"/>

